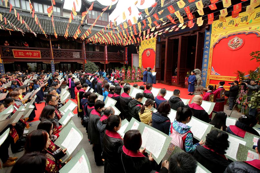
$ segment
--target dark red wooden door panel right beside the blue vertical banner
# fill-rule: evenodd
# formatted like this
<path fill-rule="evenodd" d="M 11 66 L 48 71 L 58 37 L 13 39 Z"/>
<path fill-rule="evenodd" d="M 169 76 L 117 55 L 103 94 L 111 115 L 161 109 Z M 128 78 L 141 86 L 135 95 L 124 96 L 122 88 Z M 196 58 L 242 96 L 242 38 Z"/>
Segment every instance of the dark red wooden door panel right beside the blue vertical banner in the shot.
<path fill-rule="evenodd" d="M 200 69 L 202 67 L 202 56 L 203 56 L 203 40 L 204 34 L 197 32 L 197 43 L 196 43 L 196 54 L 195 54 L 195 65 L 194 69 Z"/>

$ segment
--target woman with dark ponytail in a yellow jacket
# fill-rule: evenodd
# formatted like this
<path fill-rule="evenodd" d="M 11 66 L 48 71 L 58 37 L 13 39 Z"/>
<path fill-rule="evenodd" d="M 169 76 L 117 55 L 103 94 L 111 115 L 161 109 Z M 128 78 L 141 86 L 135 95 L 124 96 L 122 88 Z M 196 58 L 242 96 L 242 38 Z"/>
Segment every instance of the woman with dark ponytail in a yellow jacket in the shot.
<path fill-rule="evenodd" d="M 153 111 L 151 111 L 151 109 L 153 108 L 153 104 L 154 102 L 152 99 L 147 99 L 145 101 L 145 104 L 143 104 L 143 106 L 141 107 L 140 112 L 138 112 L 139 118 L 136 120 L 149 125 L 149 123 L 152 122 Z"/>

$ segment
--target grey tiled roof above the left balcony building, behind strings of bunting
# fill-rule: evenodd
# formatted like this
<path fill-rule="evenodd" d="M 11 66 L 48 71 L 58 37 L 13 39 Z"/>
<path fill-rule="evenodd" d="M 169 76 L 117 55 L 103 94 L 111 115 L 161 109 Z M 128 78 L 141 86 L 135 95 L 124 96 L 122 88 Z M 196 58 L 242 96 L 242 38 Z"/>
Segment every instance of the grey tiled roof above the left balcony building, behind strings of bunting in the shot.
<path fill-rule="evenodd" d="M 32 31 L 34 31 L 37 34 L 42 34 L 41 29 L 39 26 L 35 23 L 34 18 L 31 17 L 31 15 L 26 15 L 26 14 L 21 14 L 19 13 L 20 16 L 22 16 L 23 20 L 27 23 L 27 25 L 31 28 Z M 9 12 L 4 12 L 2 13 L 3 17 L 7 18 L 10 22 L 12 22 L 15 27 L 18 27 L 22 29 L 24 32 L 30 32 L 26 29 L 24 24 L 21 24 L 20 21 L 17 20 L 17 18 L 14 16 L 14 14 L 9 13 Z M 53 26 L 51 24 L 51 18 L 44 17 L 44 16 L 38 16 L 40 24 L 42 25 L 43 30 L 47 35 L 54 35 L 54 30 Z M 55 31 L 57 35 L 63 36 L 68 24 L 68 18 L 54 18 L 54 26 L 55 26 Z M 0 25 L 3 25 L 4 27 L 8 29 L 13 29 L 7 22 L 7 25 L 5 25 L 5 21 L 0 21 Z M 78 29 L 79 26 L 79 21 L 73 21 L 70 23 L 69 29 L 68 29 L 68 34 L 70 37 L 72 37 L 76 30 Z M 79 27 L 81 30 L 81 33 L 84 33 L 85 30 L 82 28 L 82 26 Z M 82 34 L 79 34 L 79 37 L 82 36 Z"/>

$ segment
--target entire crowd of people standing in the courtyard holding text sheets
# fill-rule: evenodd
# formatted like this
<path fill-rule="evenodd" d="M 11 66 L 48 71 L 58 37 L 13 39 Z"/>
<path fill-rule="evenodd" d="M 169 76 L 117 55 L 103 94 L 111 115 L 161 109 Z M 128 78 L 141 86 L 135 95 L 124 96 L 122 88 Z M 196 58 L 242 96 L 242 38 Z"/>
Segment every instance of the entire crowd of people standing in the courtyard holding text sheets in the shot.
<path fill-rule="evenodd" d="M 153 88 L 151 83 L 139 86 L 143 93 L 137 93 L 133 98 L 129 95 L 131 87 L 138 87 L 138 85 L 131 86 L 129 83 L 125 83 L 120 75 L 120 70 L 114 72 L 112 69 L 111 73 L 109 70 L 94 73 L 75 71 L 74 74 L 72 72 L 55 72 L 54 74 L 17 72 L 0 76 L 1 93 L 9 91 L 6 98 L 1 101 L 3 103 L 0 103 L 0 112 L 13 105 L 14 111 L 11 115 L 14 114 L 20 106 L 25 106 L 31 99 L 30 97 L 23 100 L 23 97 L 31 90 L 38 88 L 40 91 L 36 93 L 35 102 L 45 104 L 40 114 L 37 130 L 30 133 L 26 130 L 31 126 L 29 122 L 35 118 L 35 111 L 32 111 L 29 119 L 21 118 L 17 123 L 10 124 L 1 131 L 0 135 L 10 128 L 8 137 L 0 146 L 0 159 L 3 167 L 13 166 L 11 172 L 18 172 L 24 167 L 32 168 L 34 172 L 59 172 L 70 161 L 69 159 L 62 163 L 61 158 L 65 156 L 66 148 L 61 149 L 60 146 L 54 144 L 55 140 L 59 138 L 59 129 L 62 128 L 58 122 L 62 113 L 58 109 L 65 104 L 61 103 L 59 96 L 61 77 L 64 77 L 64 81 L 69 87 L 71 99 L 77 101 L 77 115 L 81 118 L 81 124 L 86 127 L 87 134 L 84 137 L 88 137 L 90 145 L 92 145 L 96 166 L 104 166 L 105 173 L 196 172 L 197 162 L 213 173 L 259 172 L 259 159 L 232 162 L 224 155 L 229 148 L 228 133 L 240 138 L 244 138 L 246 132 L 256 136 L 259 134 L 252 128 L 257 123 L 256 117 L 252 114 L 243 115 L 235 125 L 226 127 L 227 115 L 224 113 L 224 102 L 222 101 L 223 82 L 219 82 L 218 89 L 214 92 L 212 92 L 213 86 L 209 85 L 204 97 L 195 95 L 193 103 L 185 105 L 180 99 L 180 90 L 175 89 L 174 94 L 167 101 L 164 98 L 167 93 L 166 89 L 161 89 L 160 94 L 154 96 L 151 92 Z M 23 85 L 26 79 L 30 79 L 30 81 L 27 82 L 28 85 Z M 3 88 L 2 85 L 8 84 L 9 81 L 11 81 L 10 87 Z M 254 82 L 256 83 L 256 81 Z M 253 83 L 248 85 L 253 85 Z M 251 86 L 248 88 L 252 89 Z M 122 90 L 123 92 L 121 92 Z M 95 93 L 103 95 L 104 99 L 98 100 Z M 117 101 L 115 107 L 121 112 L 119 115 L 115 115 L 115 110 L 110 106 L 104 108 L 106 97 Z M 143 104 L 144 97 L 146 101 Z M 212 101 L 216 102 L 216 108 L 213 110 L 216 114 L 213 118 L 201 107 L 203 100 L 211 101 L 212 98 Z M 44 100 L 45 103 L 42 102 Z M 153 108 L 157 111 L 152 111 Z M 177 111 L 173 122 L 168 118 L 171 109 Z M 190 126 L 187 125 L 193 116 L 219 130 L 212 130 L 208 133 L 205 141 L 197 141 L 193 138 Z M 157 164 L 151 154 L 147 155 L 145 148 L 140 149 L 142 136 L 138 130 L 127 131 L 123 138 L 117 132 L 124 119 L 130 121 L 132 118 L 176 139 L 174 145 L 180 147 L 184 152 L 175 153 L 169 161 L 165 160 Z M 12 153 L 24 150 L 24 155 L 19 159 L 9 157 L 10 145 Z M 260 140 L 258 140 L 257 146 L 254 146 L 260 157 L 259 147 Z"/>

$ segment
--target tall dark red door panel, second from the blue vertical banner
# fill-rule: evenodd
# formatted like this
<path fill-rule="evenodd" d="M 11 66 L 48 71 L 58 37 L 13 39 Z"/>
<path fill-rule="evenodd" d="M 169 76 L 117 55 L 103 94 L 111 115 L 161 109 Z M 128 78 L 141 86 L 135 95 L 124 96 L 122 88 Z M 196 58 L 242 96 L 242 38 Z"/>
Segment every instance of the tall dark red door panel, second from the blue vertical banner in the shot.
<path fill-rule="evenodd" d="M 179 36 L 179 53 L 178 53 L 178 67 L 177 67 L 177 85 L 185 84 L 185 68 L 186 68 L 186 59 L 187 59 L 187 46 L 188 46 L 188 37 Z"/>

